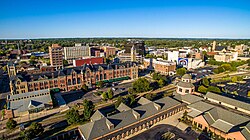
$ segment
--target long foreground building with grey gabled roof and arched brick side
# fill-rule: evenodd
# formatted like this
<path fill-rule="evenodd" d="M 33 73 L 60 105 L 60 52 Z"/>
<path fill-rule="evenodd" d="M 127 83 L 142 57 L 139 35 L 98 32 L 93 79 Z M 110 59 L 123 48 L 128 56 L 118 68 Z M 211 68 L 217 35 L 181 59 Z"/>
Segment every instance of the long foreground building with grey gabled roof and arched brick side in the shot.
<path fill-rule="evenodd" d="M 140 98 L 138 107 L 129 108 L 121 104 L 120 113 L 105 116 L 100 111 L 94 113 L 91 122 L 78 127 L 84 140 L 125 139 L 142 129 L 185 109 L 185 104 L 165 97 L 156 101 Z"/>

